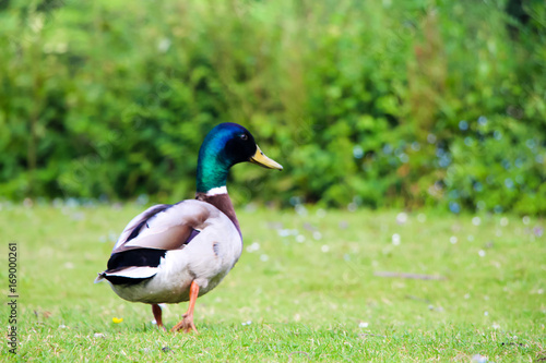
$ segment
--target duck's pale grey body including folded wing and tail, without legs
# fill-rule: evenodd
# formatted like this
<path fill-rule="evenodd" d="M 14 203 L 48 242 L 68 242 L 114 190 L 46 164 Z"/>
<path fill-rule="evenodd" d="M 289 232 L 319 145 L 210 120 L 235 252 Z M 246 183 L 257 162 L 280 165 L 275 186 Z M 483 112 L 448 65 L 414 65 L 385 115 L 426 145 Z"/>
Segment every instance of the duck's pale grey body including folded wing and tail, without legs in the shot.
<path fill-rule="evenodd" d="M 237 227 L 206 202 L 153 206 L 129 222 L 97 280 L 109 280 L 120 298 L 134 302 L 188 301 L 192 281 L 205 294 L 240 257 Z"/>

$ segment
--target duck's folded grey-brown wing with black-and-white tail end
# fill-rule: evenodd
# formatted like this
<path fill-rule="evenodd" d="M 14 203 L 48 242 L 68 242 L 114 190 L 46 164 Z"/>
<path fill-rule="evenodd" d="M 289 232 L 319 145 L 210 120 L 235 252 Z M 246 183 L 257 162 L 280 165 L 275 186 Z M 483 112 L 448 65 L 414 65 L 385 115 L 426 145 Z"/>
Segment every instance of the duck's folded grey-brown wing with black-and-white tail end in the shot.
<path fill-rule="evenodd" d="M 167 251 L 181 250 L 219 213 L 206 203 L 182 201 L 150 207 L 127 225 L 114 246 L 108 268 L 98 274 L 111 283 L 138 283 L 157 273 Z"/>

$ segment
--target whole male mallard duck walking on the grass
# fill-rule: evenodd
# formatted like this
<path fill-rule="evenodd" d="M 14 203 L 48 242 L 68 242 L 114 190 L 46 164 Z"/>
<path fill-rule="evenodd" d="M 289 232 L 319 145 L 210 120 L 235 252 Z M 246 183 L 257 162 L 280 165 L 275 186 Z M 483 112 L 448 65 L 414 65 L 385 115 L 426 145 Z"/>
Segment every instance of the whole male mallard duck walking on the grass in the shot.
<path fill-rule="evenodd" d="M 195 300 L 222 281 L 242 251 L 226 190 L 229 168 L 242 161 L 283 169 L 241 125 L 215 126 L 199 150 L 195 199 L 155 205 L 134 217 L 114 246 L 108 269 L 95 282 L 106 279 L 121 299 L 152 304 L 163 329 L 158 304 L 189 300 L 188 312 L 171 330 L 197 332 Z"/>

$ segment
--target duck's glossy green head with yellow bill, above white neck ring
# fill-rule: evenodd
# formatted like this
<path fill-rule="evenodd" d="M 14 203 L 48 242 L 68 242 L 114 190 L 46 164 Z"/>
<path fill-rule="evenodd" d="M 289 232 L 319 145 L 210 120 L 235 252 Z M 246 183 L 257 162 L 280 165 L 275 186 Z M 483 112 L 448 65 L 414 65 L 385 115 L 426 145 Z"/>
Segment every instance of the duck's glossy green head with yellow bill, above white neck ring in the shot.
<path fill-rule="evenodd" d="M 244 126 L 237 123 L 221 123 L 212 129 L 199 149 L 198 193 L 225 186 L 229 168 L 242 161 L 283 170 L 278 162 L 260 150 L 252 134 Z"/>

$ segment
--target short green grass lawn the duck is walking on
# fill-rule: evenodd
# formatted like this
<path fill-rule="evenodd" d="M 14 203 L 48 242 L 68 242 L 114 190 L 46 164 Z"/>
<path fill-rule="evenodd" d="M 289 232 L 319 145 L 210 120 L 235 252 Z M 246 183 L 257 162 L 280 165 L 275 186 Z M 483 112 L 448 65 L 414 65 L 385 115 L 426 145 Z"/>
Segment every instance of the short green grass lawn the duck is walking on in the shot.
<path fill-rule="evenodd" d="M 20 294 L 17 355 L 4 341 L 3 361 L 546 360 L 542 219 L 238 208 L 242 256 L 198 300 L 200 334 L 185 335 L 158 331 L 149 305 L 93 283 L 144 207 L 2 204 L 1 266 L 16 243 Z M 186 308 L 167 305 L 168 328 Z"/>

